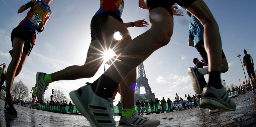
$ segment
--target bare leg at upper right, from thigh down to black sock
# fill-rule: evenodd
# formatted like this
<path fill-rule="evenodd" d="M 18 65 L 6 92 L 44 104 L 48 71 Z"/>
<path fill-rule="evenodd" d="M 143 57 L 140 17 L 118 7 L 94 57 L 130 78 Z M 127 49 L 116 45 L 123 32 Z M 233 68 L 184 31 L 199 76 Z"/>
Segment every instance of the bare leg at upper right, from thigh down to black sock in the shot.
<path fill-rule="evenodd" d="M 219 26 L 203 0 L 193 2 L 186 9 L 204 26 L 204 47 L 208 55 L 209 72 L 221 72 L 221 39 Z"/>

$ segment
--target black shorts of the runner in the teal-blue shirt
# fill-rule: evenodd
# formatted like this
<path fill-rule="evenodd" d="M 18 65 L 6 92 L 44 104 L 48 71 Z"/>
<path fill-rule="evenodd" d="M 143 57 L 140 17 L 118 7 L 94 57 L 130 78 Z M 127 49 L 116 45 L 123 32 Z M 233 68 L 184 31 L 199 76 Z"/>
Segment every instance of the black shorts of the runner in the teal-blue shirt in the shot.
<path fill-rule="evenodd" d="M 195 48 L 197 49 L 201 57 L 204 59 L 205 63 L 208 64 L 207 53 L 204 49 L 204 39 L 201 39 L 200 41 L 198 41 L 197 44 L 195 45 Z M 221 58 L 226 58 L 223 50 L 221 50 L 221 52 L 222 52 Z"/>

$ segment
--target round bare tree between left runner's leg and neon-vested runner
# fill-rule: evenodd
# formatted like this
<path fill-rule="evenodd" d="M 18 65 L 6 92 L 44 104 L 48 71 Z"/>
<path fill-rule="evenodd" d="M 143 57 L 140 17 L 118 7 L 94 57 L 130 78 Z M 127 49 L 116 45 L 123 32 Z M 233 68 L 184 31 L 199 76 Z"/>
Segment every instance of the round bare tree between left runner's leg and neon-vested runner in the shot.
<path fill-rule="evenodd" d="M 25 86 L 25 84 L 21 80 L 19 82 L 13 83 L 11 95 L 12 97 L 20 100 L 25 99 L 29 96 L 28 86 Z"/>

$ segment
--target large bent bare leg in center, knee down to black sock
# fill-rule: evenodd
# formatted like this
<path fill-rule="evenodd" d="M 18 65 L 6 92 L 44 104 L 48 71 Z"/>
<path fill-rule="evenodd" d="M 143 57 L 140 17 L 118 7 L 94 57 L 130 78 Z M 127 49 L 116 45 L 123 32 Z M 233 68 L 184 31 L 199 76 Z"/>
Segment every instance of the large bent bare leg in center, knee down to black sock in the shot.
<path fill-rule="evenodd" d="M 134 38 L 122 55 L 104 73 L 117 83 L 148 58 L 155 50 L 169 43 L 173 32 L 173 17 L 164 8 L 152 9 L 149 13 L 150 30 Z M 122 90 L 121 90 L 122 91 Z"/>

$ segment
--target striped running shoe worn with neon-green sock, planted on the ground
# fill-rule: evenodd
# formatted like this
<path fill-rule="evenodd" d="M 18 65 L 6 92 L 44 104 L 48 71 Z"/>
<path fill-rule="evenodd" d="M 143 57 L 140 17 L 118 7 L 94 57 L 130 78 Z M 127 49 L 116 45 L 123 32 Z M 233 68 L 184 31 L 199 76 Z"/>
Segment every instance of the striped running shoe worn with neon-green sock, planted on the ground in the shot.
<path fill-rule="evenodd" d="M 131 118 L 121 116 L 118 126 L 120 127 L 156 127 L 160 124 L 159 120 L 150 120 L 135 111 Z"/>

